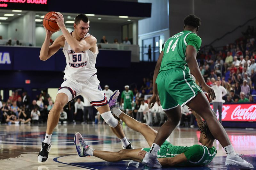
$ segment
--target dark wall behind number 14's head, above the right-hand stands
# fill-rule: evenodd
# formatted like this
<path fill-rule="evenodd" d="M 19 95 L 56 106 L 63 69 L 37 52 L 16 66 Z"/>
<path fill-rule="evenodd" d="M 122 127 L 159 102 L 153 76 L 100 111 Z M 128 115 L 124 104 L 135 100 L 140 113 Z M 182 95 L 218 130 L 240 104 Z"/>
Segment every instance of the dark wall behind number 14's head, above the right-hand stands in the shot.
<path fill-rule="evenodd" d="M 192 14 L 193 1 L 191 0 L 170 0 L 170 35 L 183 30 L 184 18 Z M 234 0 L 194 0 L 195 15 L 201 18 L 202 24 L 199 27 L 198 35 L 202 38 L 202 46 L 211 43 L 236 26 L 242 25 L 245 21 L 256 16 L 255 0 L 234 1 Z M 234 33 L 226 36 L 213 44 L 214 47 L 223 46 L 242 36 L 248 25 L 256 26 L 256 20 L 239 28 Z"/>

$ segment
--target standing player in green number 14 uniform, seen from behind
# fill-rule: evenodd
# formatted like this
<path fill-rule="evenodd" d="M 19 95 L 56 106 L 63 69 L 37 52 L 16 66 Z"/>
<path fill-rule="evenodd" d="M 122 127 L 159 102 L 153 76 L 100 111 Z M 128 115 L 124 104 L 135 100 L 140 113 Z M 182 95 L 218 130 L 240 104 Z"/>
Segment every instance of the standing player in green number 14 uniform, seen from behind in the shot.
<path fill-rule="evenodd" d="M 151 107 L 153 107 L 156 101 L 159 105 L 160 98 L 168 120 L 159 129 L 150 151 L 146 153 L 143 159 L 143 163 L 150 167 L 161 167 L 157 160 L 157 152 L 180 121 L 180 107 L 187 105 L 207 122 L 212 135 L 225 149 L 227 153 L 225 165 L 251 169 L 253 168 L 252 164 L 236 154 L 225 129 L 217 120 L 206 96 L 191 77 L 190 73 L 202 85 L 209 97 L 212 100 L 215 99 L 215 93 L 211 87 L 206 85 L 196 60 L 196 53 L 201 46 L 201 38 L 196 34 L 200 24 L 200 18 L 195 15 L 188 15 L 184 19 L 184 30 L 169 38 L 159 55 L 153 77 L 153 96 L 148 106 L 150 107 L 152 104 Z"/>

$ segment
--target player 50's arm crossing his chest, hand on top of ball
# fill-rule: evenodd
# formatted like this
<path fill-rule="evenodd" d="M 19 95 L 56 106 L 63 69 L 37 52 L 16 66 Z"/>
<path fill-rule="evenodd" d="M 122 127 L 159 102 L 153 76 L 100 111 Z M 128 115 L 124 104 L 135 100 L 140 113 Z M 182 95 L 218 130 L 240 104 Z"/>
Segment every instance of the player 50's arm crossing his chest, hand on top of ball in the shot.
<path fill-rule="evenodd" d="M 71 46 L 71 48 L 75 52 L 85 51 L 85 50 L 88 50 L 95 46 L 97 39 L 93 36 L 88 36 L 84 40 L 81 40 L 81 41 L 77 41 L 74 37 L 72 37 L 72 35 L 68 32 L 68 30 L 64 24 L 63 15 L 59 12 L 55 12 L 55 13 L 56 14 L 52 14 L 52 15 L 54 15 L 57 19 L 56 18 L 51 18 L 51 19 L 55 20 L 57 22 L 66 41 L 68 42 L 68 44 Z"/>

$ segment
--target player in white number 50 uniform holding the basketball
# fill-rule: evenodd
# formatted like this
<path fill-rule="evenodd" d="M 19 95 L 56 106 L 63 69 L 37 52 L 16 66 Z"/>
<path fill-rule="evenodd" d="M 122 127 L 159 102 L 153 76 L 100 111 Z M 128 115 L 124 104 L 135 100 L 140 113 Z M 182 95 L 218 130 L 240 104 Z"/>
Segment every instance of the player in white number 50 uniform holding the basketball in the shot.
<path fill-rule="evenodd" d="M 47 60 L 63 47 L 67 66 L 64 71 L 64 82 L 58 90 L 55 103 L 48 116 L 45 139 L 38 154 L 38 162 L 43 163 L 48 159 L 51 150 L 50 139 L 59 122 L 60 111 L 68 101 L 73 100 L 77 95 L 85 97 L 100 112 L 105 122 L 122 141 L 124 149 L 133 149 L 131 143 L 126 139 L 120 123 L 111 114 L 106 95 L 100 87 L 95 68 L 96 56 L 99 50 L 96 38 L 88 33 L 89 19 L 84 14 L 77 15 L 74 31 L 69 33 L 64 24 L 63 15 L 59 12 L 52 15 L 56 18 L 51 19 L 57 22 L 63 35 L 60 35 L 49 47 L 54 32 L 48 31 L 44 27 L 46 37 L 40 51 L 40 59 Z"/>

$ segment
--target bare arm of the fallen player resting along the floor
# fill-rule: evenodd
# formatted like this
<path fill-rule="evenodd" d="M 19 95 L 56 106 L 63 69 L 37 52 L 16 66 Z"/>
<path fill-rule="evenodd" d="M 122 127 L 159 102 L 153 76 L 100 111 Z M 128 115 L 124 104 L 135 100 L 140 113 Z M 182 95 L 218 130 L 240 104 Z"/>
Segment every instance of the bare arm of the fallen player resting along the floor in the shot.
<path fill-rule="evenodd" d="M 184 153 L 181 153 L 172 158 L 158 158 L 159 163 L 163 166 L 174 166 L 182 162 L 187 162 L 188 159 Z"/>

